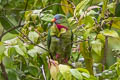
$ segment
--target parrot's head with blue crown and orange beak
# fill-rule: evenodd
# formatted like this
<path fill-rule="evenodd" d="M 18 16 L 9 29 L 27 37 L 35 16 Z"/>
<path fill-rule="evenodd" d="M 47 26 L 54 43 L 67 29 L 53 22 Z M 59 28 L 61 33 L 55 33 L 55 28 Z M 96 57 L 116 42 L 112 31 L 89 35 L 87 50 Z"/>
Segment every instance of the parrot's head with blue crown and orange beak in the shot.
<path fill-rule="evenodd" d="M 54 18 L 51 20 L 51 22 L 54 22 L 56 24 L 63 24 L 67 22 L 67 18 L 62 14 L 56 14 Z"/>

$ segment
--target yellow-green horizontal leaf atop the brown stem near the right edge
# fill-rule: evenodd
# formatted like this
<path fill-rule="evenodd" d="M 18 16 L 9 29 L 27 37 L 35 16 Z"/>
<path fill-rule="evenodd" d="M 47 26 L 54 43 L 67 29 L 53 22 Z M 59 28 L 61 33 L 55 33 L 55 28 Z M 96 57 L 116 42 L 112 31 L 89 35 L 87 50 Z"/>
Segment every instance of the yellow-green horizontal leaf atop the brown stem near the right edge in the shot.
<path fill-rule="evenodd" d="M 118 33 L 114 30 L 105 29 L 105 30 L 101 31 L 100 33 L 102 33 L 105 36 L 119 38 Z"/>

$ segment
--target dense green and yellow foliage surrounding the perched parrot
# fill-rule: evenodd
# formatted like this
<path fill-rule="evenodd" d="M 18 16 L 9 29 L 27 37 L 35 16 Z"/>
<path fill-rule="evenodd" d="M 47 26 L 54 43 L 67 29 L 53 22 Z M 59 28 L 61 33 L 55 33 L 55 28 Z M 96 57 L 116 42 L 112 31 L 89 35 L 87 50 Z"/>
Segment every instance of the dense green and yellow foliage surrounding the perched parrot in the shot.
<path fill-rule="evenodd" d="M 69 64 L 49 59 L 55 14 L 74 35 Z M 0 0 L 0 80 L 120 80 L 119 22 L 120 0 Z"/>

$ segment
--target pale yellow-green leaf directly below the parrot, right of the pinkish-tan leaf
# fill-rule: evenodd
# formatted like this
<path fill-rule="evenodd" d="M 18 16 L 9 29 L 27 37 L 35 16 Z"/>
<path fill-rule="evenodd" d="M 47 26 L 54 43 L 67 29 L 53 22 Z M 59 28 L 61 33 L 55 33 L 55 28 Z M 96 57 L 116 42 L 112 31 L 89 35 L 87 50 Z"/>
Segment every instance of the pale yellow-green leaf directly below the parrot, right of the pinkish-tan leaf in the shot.
<path fill-rule="evenodd" d="M 60 64 L 59 70 L 60 70 L 60 73 L 63 75 L 65 80 L 71 80 L 72 76 L 70 73 L 70 66 Z"/>

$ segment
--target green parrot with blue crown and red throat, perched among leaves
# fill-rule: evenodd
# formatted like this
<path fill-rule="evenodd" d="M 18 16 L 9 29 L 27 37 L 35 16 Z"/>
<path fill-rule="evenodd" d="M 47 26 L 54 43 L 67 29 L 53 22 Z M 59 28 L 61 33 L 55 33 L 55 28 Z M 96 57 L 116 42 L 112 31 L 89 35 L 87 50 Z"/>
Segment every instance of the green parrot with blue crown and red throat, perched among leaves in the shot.
<path fill-rule="evenodd" d="M 48 50 L 54 60 L 67 63 L 72 48 L 73 33 L 66 16 L 56 14 L 52 19 L 53 26 L 48 30 Z"/>

